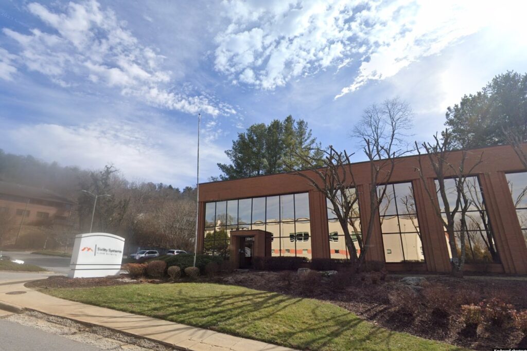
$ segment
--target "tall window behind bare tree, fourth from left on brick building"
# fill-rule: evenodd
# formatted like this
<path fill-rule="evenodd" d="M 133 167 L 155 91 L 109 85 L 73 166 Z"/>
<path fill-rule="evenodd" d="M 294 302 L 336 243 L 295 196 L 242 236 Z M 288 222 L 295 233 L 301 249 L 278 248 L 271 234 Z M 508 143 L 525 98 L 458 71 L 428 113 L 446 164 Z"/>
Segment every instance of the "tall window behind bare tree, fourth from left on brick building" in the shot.
<path fill-rule="evenodd" d="M 437 192 L 439 187 L 436 184 Z M 447 193 L 448 204 L 451 210 L 456 205 L 457 190 L 454 179 L 445 179 L 445 189 Z M 500 262 L 497 253 L 494 236 L 492 233 L 492 226 L 489 215 L 485 209 L 485 201 L 483 192 L 480 187 L 477 177 L 467 177 L 464 193 L 466 194 L 467 203 L 462 200 L 460 209 L 454 216 L 454 234 L 456 236 L 456 249 L 461 254 L 461 208 L 467 205 L 466 212 L 466 263 L 487 263 Z M 440 194 L 437 194 L 441 211 L 446 222 L 446 214 L 444 212 L 443 199 Z M 448 240 L 448 234 L 445 230 L 445 236 Z"/>

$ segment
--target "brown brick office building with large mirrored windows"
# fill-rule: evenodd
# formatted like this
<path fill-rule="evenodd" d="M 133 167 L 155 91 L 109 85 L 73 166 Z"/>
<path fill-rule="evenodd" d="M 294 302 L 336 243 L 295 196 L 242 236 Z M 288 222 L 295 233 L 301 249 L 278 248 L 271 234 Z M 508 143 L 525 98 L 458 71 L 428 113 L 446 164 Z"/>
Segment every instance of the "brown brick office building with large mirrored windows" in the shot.
<path fill-rule="evenodd" d="M 523 149 L 527 153 L 527 144 Z M 465 270 L 527 274 L 527 172 L 510 146 L 471 150 L 465 169 L 482 153 L 484 162 L 467 178 L 472 205 L 467 212 Z M 453 152 L 448 162 L 459 163 L 461 156 Z M 433 189 L 435 175 L 426 157 L 423 165 Z M 362 235 L 361 224 L 373 215 L 377 220 L 366 259 L 385 262 L 388 270 L 450 272 L 448 236 L 417 167 L 417 156 L 399 158 L 381 208 L 370 213 L 370 165 L 353 164 L 356 184 L 350 186 L 356 186 L 359 195 L 350 233 Z M 446 185 L 453 183 L 450 179 Z M 198 251 L 230 255 L 241 266 L 250 264 L 252 256 L 346 259 L 343 231 L 334 217 L 324 195 L 298 175 L 203 183 Z M 239 260 L 233 255 L 248 257 Z"/>

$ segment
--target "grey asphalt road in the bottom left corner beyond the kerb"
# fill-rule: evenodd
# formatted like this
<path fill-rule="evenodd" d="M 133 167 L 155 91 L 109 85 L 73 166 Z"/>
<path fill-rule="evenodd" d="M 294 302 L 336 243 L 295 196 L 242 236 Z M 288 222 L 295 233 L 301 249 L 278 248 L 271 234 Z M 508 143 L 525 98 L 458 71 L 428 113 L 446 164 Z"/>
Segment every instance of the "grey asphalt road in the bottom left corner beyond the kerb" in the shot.
<path fill-rule="evenodd" d="M 99 347 L 81 344 L 63 336 L 0 319 L 0 350 L 2 351 L 95 351 Z"/>

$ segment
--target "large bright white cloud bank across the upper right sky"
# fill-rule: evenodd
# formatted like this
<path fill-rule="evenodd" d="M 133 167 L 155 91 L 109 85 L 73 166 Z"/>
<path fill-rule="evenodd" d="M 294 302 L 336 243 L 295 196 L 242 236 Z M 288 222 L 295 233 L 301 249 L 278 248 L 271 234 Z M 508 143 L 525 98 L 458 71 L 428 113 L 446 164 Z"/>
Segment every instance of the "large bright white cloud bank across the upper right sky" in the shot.
<path fill-rule="evenodd" d="M 225 1 L 215 67 L 235 84 L 275 89 L 329 67 L 360 63 L 335 98 L 392 77 L 423 57 L 521 14 L 522 2 L 467 0 Z M 519 18 L 518 18 L 519 19 Z M 519 26 L 522 21 L 516 21 Z M 346 69 L 346 72 L 349 72 Z"/>

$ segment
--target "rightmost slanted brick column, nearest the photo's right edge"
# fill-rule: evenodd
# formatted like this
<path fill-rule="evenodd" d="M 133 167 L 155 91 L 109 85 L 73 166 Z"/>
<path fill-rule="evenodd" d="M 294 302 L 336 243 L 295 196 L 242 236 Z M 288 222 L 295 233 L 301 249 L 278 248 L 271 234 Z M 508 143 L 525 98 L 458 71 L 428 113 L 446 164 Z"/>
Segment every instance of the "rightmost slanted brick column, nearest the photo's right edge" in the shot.
<path fill-rule="evenodd" d="M 527 247 L 507 178 L 503 172 L 490 172 L 480 174 L 479 179 L 503 269 L 509 274 L 526 274 Z"/>

